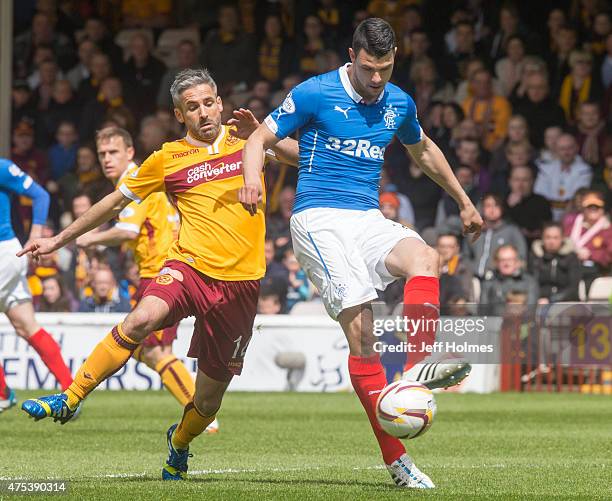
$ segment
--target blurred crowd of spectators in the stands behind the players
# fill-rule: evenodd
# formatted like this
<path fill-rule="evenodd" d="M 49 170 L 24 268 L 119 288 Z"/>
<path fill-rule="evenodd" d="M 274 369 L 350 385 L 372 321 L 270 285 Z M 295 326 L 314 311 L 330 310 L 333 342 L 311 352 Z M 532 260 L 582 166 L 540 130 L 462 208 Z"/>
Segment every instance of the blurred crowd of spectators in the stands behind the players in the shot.
<path fill-rule="evenodd" d="M 11 158 L 52 194 L 49 234 L 113 189 L 96 130 L 130 131 L 138 161 L 184 134 L 169 94 L 178 71 L 207 67 L 224 120 L 248 107 L 261 121 L 297 83 L 344 64 L 368 16 L 395 28 L 392 81 L 486 223 L 464 239 L 457 204 L 389 145 L 381 210 L 439 251 L 442 303 L 573 301 L 581 283 L 588 295 L 612 265 L 612 11 L 599 0 L 15 2 Z M 291 249 L 296 180 L 267 167 L 262 313 L 316 301 Z M 13 214 L 23 240 L 29 201 Z M 128 311 L 137 283 L 129 252 L 74 243 L 30 275 L 39 311 Z M 381 294 L 390 308 L 402 286 Z"/>

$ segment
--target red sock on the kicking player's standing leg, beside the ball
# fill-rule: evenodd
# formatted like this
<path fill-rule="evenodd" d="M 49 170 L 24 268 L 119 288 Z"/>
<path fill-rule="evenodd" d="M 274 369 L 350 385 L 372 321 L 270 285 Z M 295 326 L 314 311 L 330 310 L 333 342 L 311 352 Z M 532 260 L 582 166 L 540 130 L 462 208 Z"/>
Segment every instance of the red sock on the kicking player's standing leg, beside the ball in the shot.
<path fill-rule="evenodd" d="M 380 357 L 356 357 L 349 355 L 349 374 L 355 393 L 361 400 L 361 405 L 365 409 L 372 431 L 376 435 L 378 445 L 382 451 L 383 460 L 386 464 L 391 464 L 406 452 L 404 445 L 399 439 L 392 437 L 384 432 L 376 419 L 376 401 L 381 390 L 387 386 L 387 379 Z"/>

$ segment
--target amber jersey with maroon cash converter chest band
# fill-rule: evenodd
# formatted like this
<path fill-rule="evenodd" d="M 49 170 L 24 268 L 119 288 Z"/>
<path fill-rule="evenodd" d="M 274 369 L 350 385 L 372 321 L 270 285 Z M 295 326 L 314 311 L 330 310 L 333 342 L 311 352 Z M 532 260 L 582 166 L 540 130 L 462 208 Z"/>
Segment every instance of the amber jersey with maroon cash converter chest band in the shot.
<path fill-rule="evenodd" d="M 227 126 L 210 145 L 189 136 L 165 143 L 119 186 L 139 203 L 168 193 L 181 216 L 168 259 L 218 280 L 256 280 L 265 273 L 265 197 L 255 216 L 238 201 L 244 144 Z"/>

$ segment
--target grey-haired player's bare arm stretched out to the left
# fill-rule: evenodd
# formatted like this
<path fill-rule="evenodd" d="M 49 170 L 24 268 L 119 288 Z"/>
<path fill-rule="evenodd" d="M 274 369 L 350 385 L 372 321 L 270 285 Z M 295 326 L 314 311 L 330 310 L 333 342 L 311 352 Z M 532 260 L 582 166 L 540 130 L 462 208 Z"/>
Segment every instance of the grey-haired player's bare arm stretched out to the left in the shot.
<path fill-rule="evenodd" d="M 71 242 L 78 236 L 86 233 L 94 228 L 97 228 L 102 223 L 107 222 L 112 217 L 116 216 L 129 204 L 131 200 L 125 197 L 121 191 L 113 191 L 110 195 L 105 196 L 97 204 L 93 205 L 85 214 L 74 221 L 64 231 L 50 238 L 36 238 L 17 254 L 23 256 L 31 254 L 32 257 L 50 254 L 67 243 Z"/>

